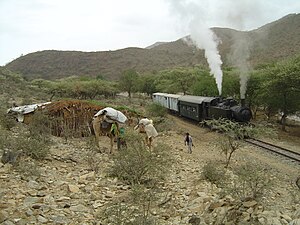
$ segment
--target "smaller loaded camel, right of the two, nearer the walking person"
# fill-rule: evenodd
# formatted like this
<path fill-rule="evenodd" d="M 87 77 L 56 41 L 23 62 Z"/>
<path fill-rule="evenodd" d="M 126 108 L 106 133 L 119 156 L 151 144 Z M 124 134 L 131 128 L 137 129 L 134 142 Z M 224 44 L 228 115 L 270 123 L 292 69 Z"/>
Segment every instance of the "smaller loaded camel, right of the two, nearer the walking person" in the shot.
<path fill-rule="evenodd" d="M 141 119 L 134 129 L 145 135 L 145 144 L 151 149 L 153 139 L 158 135 L 152 120 L 148 120 L 147 118 Z"/>

